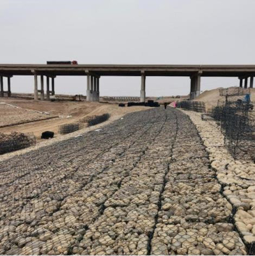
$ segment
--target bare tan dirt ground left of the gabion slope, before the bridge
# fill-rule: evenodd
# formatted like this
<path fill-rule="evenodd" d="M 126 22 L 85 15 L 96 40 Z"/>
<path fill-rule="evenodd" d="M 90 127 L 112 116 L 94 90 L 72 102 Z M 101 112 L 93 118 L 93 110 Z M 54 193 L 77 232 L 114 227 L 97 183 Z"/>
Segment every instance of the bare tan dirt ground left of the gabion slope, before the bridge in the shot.
<path fill-rule="evenodd" d="M 50 116 L 59 116 L 57 118 L 52 118 L 49 120 L 29 122 L 27 124 L 13 125 L 10 127 L 0 128 L 0 132 L 4 133 L 10 133 L 14 131 L 33 132 L 33 134 L 35 134 L 36 136 L 36 139 L 40 139 L 40 136 L 43 131 L 53 131 L 55 132 L 56 136 L 60 136 L 58 134 L 59 125 L 79 122 L 79 120 L 81 118 L 84 118 L 85 116 L 102 115 L 104 113 L 109 113 L 111 115 L 111 118 L 113 118 L 114 116 L 122 116 L 126 113 L 147 109 L 147 107 L 143 106 L 120 108 L 118 107 L 118 104 L 105 104 L 99 102 L 86 101 L 73 102 L 68 100 L 49 102 L 19 98 L 2 98 L 0 102 L 5 102 L 13 106 L 18 106 L 20 108 L 23 108 L 24 111 L 26 111 L 25 109 L 33 109 L 35 111 L 47 112 L 50 114 Z M 10 109 L 12 109 L 13 113 Z M 19 111 L 21 110 L 22 109 L 19 109 Z M 8 108 L 8 115 L 15 116 L 15 113 L 17 113 L 17 108 Z M 32 115 L 30 113 L 33 112 L 29 111 L 27 115 Z M 3 108 L 0 108 L 0 115 L 4 115 Z M 17 120 L 13 118 L 13 124 L 15 123 L 17 123 Z"/>

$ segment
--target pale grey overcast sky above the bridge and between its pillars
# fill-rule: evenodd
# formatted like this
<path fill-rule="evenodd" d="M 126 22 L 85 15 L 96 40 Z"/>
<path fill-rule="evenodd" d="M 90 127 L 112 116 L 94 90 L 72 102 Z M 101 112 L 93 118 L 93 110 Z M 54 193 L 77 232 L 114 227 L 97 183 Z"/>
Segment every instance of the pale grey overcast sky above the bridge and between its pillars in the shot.
<path fill-rule="evenodd" d="M 0 63 L 254 65 L 254 13 L 254 0 L 1 0 Z M 201 90 L 238 83 L 202 77 Z M 100 95 L 140 90 L 141 77 L 100 78 Z M 189 90 L 189 77 L 146 77 L 146 96 Z M 58 76 L 55 91 L 85 95 L 86 76 Z M 12 77 L 12 92 L 32 93 L 33 77 Z"/>

